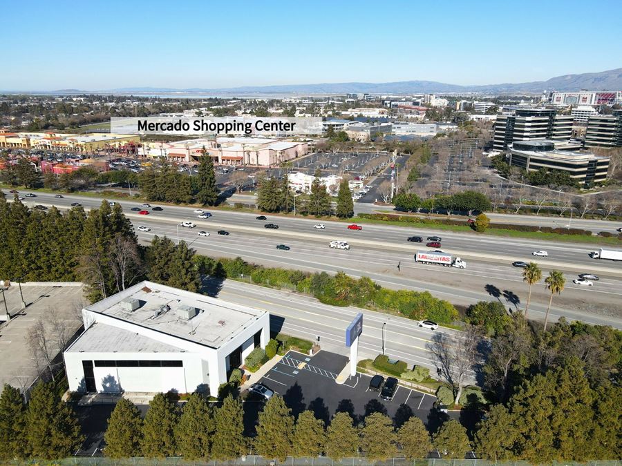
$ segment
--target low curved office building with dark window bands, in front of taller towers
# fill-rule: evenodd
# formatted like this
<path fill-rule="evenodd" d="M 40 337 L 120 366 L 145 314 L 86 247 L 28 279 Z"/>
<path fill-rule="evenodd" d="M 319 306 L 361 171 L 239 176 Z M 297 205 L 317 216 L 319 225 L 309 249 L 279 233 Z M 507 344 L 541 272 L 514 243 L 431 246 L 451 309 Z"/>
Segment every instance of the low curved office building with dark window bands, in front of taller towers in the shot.
<path fill-rule="evenodd" d="M 609 171 L 609 157 L 587 152 L 559 151 L 554 141 L 516 141 L 508 146 L 507 162 L 527 171 L 560 170 L 583 184 L 603 182 Z"/>

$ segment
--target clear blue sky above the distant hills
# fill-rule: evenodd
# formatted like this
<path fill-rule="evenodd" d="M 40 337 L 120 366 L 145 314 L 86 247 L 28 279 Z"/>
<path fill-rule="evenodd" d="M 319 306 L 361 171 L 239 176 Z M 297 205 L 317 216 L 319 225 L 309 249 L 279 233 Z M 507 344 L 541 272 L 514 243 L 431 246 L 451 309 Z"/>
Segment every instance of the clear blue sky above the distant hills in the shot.
<path fill-rule="evenodd" d="M 3 17 L 2 90 L 498 84 L 622 66 L 620 0 L 12 0 Z"/>

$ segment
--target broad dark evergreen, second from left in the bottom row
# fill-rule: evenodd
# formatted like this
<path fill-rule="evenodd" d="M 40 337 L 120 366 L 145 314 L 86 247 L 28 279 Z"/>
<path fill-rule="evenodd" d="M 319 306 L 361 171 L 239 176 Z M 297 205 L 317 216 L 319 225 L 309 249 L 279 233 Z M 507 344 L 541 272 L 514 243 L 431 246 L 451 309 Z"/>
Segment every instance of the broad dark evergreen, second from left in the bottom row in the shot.
<path fill-rule="evenodd" d="M 51 383 L 39 382 L 30 392 L 26 439 L 30 456 L 44 460 L 66 458 L 84 441 L 73 411 Z"/>

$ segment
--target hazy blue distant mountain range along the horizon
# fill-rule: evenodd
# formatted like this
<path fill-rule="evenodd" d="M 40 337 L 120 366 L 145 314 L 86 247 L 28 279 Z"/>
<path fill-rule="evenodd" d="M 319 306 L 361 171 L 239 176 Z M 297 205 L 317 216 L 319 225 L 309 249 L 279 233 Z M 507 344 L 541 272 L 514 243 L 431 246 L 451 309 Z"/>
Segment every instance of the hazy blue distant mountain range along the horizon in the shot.
<path fill-rule="evenodd" d="M 215 94 L 215 95 L 253 95 L 253 94 L 422 94 L 422 93 L 543 93 L 548 90 L 572 92 L 577 90 L 622 90 L 622 68 L 615 70 L 588 72 L 581 75 L 564 75 L 547 81 L 533 81 L 518 84 L 487 84 L 484 86 L 458 86 L 436 81 L 396 81 L 388 83 L 324 83 L 290 84 L 281 86 L 242 86 L 219 89 L 174 89 L 174 88 L 119 88 L 110 90 L 85 91 L 64 89 L 49 91 L 46 94 Z"/>

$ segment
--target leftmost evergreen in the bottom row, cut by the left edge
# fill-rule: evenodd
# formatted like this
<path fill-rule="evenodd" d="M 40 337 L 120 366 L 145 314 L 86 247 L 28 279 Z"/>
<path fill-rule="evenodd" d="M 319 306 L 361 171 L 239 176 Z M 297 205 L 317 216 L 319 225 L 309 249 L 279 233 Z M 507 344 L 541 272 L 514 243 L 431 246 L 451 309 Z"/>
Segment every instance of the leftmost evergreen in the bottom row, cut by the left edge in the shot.
<path fill-rule="evenodd" d="M 4 385 L 0 395 L 0 460 L 28 456 L 26 406 L 18 389 Z"/>

